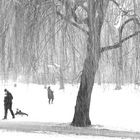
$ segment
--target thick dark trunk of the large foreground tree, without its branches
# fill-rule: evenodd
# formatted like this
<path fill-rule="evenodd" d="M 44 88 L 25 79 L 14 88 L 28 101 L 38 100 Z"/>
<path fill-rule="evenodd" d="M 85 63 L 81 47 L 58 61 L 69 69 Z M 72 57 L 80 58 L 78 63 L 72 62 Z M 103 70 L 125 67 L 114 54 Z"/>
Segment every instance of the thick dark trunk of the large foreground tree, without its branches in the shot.
<path fill-rule="evenodd" d="M 85 127 L 91 125 L 89 110 L 95 74 L 100 60 L 100 33 L 107 9 L 108 0 L 89 0 L 89 34 L 87 39 L 87 55 L 81 75 L 73 126 Z"/>

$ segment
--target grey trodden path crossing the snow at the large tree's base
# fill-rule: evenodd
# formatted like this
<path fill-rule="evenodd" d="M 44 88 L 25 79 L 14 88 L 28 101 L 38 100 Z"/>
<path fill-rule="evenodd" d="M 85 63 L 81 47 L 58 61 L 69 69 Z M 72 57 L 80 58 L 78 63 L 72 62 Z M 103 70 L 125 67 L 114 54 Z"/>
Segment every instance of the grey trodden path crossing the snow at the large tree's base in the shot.
<path fill-rule="evenodd" d="M 14 132 L 28 132 L 40 134 L 72 134 L 83 136 L 103 136 L 113 138 L 138 138 L 140 132 L 109 130 L 98 126 L 87 128 L 73 127 L 66 123 L 45 123 L 45 122 L 19 122 L 19 121 L 0 121 L 0 130 Z"/>

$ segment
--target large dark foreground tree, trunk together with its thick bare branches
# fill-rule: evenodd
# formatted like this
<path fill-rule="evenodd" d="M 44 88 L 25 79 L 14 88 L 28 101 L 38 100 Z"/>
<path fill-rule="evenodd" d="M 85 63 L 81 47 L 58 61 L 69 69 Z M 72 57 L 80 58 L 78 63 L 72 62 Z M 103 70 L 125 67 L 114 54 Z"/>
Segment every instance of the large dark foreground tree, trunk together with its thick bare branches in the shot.
<path fill-rule="evenodd" d="M 65 3 L 69 17 L 66 16 L 68 14 L 64 14 L 61 11 L 58 11 L 57 14 L 66 22 L 85 32 L 87 36 L 86 59 L 82 70 L 72 125 L 89 126 L 91 125 L 89 117 L 91 93 L 101 54 L 104 51 L 122 47 L 121 44 L 124 41 L 137 35 L 140 31 L 136 31 L 134 34 L 122 39 L 123 29 L 126 24 L 131 21 L 136 21 L 137 24 L 139 24 L 139 22 L 135 15 L 131 15 L 131 18 L 125 21 L 120 27 L 118 43 L 102 48 L 100 45 L 100 35 L 109 2 L 113 2 L 125 15 L 127 15 L 128 12 L 124 11 L 115 0 L 65 0 L 61 2 Z M 83 11 L 84 17 L 78 14 L 79 9 Z"/>

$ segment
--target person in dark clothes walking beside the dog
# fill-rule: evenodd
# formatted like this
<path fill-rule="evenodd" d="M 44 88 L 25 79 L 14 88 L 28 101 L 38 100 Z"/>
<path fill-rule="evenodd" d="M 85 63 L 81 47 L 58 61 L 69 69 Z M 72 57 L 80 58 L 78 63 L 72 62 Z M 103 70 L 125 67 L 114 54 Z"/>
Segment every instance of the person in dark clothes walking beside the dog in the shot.
<path fill-rule="evenodd" d="M 12 117 L 15 118 L 14 112 L 12 110 L 13 96 L 7 89 L 4 89 L 4 92 L 5 92 L 5 97 L 4 97 L 4 118 L 3 119 L 7 119 L 8 109 L 11 112 Z"/>

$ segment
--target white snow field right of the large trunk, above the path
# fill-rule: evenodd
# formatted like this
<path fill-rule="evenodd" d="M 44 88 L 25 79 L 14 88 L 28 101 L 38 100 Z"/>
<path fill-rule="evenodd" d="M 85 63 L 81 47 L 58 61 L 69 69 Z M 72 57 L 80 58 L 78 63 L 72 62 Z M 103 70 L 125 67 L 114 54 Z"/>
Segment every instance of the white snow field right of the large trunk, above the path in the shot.
<path fill-rule="evenodd" d="M 101 87 L 93 89 L 92 123 L 109 129 L 140 132 L 140 87 L 125 85 L 122 90 L 114 90 L 115 85 Z"/>

